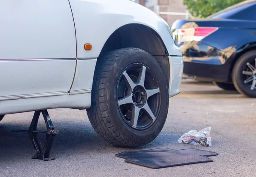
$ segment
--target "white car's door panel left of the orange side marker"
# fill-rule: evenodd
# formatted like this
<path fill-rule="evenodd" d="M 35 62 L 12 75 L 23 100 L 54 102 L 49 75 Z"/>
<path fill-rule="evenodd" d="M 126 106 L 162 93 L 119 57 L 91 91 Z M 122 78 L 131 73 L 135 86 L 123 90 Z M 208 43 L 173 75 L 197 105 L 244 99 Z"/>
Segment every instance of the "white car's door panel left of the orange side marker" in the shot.
<path fill-rule="evenodd" d="M 0 100 L 67 94 L 76 69 L 68 0 L 3 0 Z"/>

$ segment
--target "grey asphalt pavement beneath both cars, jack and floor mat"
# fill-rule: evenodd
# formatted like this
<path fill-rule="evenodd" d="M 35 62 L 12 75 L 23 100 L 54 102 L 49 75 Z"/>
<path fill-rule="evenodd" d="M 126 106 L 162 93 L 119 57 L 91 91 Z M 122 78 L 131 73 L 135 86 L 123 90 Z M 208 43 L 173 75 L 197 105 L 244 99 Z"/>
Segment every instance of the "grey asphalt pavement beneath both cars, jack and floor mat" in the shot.
<path fill-rule="evenodd" d="M 33 160 L 26 133 L 33 112 L 6 115 L 0 122 L 0 177 L 256 177 L 256 99 L 236 91 L 223 91 L 211 83 L 184 80 L 181 93 L 170 99 L 169 114 L 159 136 L 140 148 L 117 148 L 94 132 L 86 111 L 49 110 L 59 130 L 52 161 Z M 38 129 L 44 129 L 41 118 Z M 212 146 L 179 144 L 190 130 L 211 127 Z M 44 138 L 44 137 L 42 137 Z M 115 157 L 122 151 L 151 148 L 198 148 L 214 151 L 213 162 L 151 169 Z"/>

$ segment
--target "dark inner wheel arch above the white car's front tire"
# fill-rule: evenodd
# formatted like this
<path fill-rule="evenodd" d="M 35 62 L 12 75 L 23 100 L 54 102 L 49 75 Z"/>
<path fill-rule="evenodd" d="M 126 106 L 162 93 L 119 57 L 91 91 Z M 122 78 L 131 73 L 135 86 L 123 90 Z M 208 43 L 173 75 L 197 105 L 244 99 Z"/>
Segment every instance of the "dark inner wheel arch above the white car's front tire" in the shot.
<path fill-rule="evenodd" d="M 116 29 L 105 42 L 96 67 L 101 63 L 102 56 L 109 51 L 128 47 L 139 48 L 151 54 L 161 66 L 169 85 L 170 63 L 168 50 L 160 35 L 154 29 L 143 24 L 130 23 Z"/>

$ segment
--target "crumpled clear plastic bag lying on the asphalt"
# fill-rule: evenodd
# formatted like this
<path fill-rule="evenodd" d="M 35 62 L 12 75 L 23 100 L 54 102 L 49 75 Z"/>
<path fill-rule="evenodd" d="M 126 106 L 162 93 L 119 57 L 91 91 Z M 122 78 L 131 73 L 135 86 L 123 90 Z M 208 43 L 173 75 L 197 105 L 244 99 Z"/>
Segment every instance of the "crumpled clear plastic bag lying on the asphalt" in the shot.
<path fill-rule="evenodd" d="M 211 127 L 204 128 L 201 131 L 191 130 L 183 134 L 179 139 L 179 143 L 194 144 L 198 146 L 212 146 L 212 137 L 210 135 Z"/>

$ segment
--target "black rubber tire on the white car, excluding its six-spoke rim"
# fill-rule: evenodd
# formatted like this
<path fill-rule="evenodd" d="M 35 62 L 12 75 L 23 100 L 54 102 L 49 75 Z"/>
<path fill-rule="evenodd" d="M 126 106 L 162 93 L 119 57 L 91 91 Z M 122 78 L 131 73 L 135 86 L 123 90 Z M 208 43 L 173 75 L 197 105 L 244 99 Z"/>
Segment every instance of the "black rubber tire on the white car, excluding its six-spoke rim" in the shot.
<path fill-rule="evenodd" d="M 157 61 L 147 52 L 136 48 L 111 51 L 98 60 L 93 78 L 91 107 L 87 114 L 94 130 L 109 143 L 121 147 L 137 147 L 154 140 L 162 130 L 169 107 L 166 78 Z M 128 125 L 121 114 L 117 98 L 117 85 L 123 71 L 131 64 L 142 63 L 152 69 L 159 85 L 159 110 L 156 119 L 146 129 L 137 130 Z M 125 115 L 126 116 L 126 115 Z"/>

